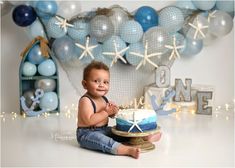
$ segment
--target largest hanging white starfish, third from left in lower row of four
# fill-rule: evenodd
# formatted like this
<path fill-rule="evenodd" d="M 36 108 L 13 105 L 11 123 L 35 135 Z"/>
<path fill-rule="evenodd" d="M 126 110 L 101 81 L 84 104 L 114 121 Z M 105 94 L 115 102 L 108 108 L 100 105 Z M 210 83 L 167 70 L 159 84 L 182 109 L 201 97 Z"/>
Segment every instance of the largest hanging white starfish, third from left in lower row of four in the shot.
<path fill-rule="evenodd" d="M 150 63 L 151 65 L 153 65 L 154 67 L 157 68 L 158 65 L 155 64 L 153 61 L 151 61 L 149 58 L 159 56 L 162 53 L 159 52 L 159 53 L 148 54 L 148 42 L 146 41 L 145 46 L 144 46 L 144 54 L 140 54 L 140 53 L 136 53 L 136 52 L 130 52 L 130 54 L 143 58 L 136 67 L 136 70 L 138 70 L 142 65 L 145 66 L 146 62 Z"/>

